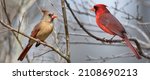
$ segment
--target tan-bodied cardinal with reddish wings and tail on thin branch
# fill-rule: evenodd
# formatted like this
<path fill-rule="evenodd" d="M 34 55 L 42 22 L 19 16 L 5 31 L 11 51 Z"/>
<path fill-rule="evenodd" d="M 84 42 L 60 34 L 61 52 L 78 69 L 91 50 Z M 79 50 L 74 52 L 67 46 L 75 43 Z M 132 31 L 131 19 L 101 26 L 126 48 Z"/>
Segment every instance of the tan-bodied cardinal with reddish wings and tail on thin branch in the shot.
<path fill-rule="evenodd" d="M 31 32 L 31 37 L 34 37 L 40 41 L 44 41 L 51 34 L 54 27 L 53 20 L 57 17 L 56 15 L 49 13 L 47 10 L 42 10 L 42 12 L 43 17 L 41 21 L 34 27 L 34 29 Z M 34 43 L 34 40 L 29 39 L 27 46 L 22 51 L 18 60 L 22 61 L 24 59 L 27 52 Z M 40 43 L 37 42 L 35 46 L 38 47 L 39 45 Z"/>

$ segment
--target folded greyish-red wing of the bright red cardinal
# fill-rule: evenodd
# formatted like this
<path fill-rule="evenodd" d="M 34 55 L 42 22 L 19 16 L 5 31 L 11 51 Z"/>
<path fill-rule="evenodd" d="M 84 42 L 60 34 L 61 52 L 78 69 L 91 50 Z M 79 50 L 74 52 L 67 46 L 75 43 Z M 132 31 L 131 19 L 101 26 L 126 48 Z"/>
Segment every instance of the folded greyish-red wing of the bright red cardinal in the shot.
<path fill-rule="evenodd" d="M 118 36 L 123 36 L 123 33 L 126 33 L 122 24 L 110 13 L 101 15 L 99 22 Z"/>

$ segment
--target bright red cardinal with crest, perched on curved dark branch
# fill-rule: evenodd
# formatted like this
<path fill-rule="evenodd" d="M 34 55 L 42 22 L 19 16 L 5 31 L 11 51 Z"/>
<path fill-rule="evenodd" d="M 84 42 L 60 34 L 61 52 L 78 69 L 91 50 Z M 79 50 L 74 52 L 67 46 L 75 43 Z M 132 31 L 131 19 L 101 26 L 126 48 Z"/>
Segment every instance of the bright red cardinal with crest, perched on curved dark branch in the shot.
<path fill-rule="evenodd" d="M 130 43 L 122 24 L 109 12 L 106 7 L 107 6 L 104 4 L 96 4 L 91 9 L 92 11 L 95 11 L 97 25 L 104 32 L 121 37 L 126 42 L 126 45 L 133 51 L 137 59 L 141 59 L 138 51 Z"/>

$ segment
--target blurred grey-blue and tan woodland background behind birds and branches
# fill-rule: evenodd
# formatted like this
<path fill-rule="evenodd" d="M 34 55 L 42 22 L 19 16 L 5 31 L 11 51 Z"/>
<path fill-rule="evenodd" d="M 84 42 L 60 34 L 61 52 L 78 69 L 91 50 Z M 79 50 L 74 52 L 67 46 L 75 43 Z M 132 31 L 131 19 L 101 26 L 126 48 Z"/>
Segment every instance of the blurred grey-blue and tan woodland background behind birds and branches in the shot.
<path fill-rule="evenodd" d="M 128 36 L 136 39 L 143 54 L 150 56 L 150 1 L 149 0 L 66 0 L 81 24 L 97 37 L 110 39 L 95 22 L 95 13 L 89 9 L 101 3 L 124 25 Z M 48 44 L 66 54 L 66 35 L 61 0 L 0 0 L 0 20 L 19 32 L 30 35 L 42 17 L 41 9 L 55 13 L 55 29 L 46 39 Z M 66 6 L 69 29 L 70 57 L 72 63 L 149 63 L 150 59 L 137 60 L 124 43 L 103 43 L 90 37 L 76 22 Z M 121 40 L 119 37 L 114 39 Z M 0 62 L 17 61 L 28 38 L 10 31 L 0 24 Z M 134 43 L 133 43 L 134 44 Z M 136 45 L 134 45 L 136 46 Z M 66 62 L 51 48 L 32 46 L 23 63 Z"/>

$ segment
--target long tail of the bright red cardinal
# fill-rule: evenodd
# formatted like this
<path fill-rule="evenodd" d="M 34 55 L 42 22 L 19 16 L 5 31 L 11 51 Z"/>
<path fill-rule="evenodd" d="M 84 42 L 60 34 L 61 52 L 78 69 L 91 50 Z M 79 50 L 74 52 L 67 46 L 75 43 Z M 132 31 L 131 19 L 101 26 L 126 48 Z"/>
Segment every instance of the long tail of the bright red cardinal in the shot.
<path fill-rule="evenodd" d="M 136 58 L 141 59 L 141 56 L 139 55 L 138 51 L 132 46 L 132 44 L 130 43 L 130 40 L 128 39 L 128 37 L 125 35 L 123 39 L 126 42 L 126 45 L 133 51 Z"/>

